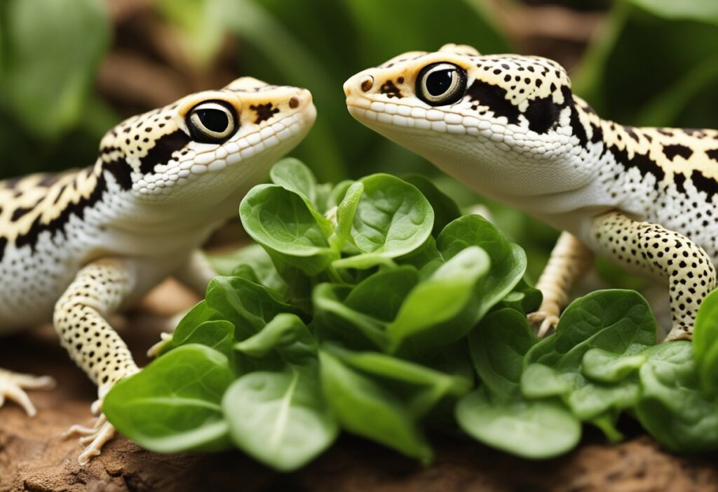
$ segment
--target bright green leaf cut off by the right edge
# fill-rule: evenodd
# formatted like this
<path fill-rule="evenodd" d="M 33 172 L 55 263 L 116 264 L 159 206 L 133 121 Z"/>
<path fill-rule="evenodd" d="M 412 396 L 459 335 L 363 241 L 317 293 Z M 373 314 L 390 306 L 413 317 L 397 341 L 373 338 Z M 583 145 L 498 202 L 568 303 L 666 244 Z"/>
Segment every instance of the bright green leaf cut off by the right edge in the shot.
<path fill-rule="evenodd" d="M 693 351 L 701 388 L 718 392 L 718 289 L 701 302 L 693 331 Z"/>

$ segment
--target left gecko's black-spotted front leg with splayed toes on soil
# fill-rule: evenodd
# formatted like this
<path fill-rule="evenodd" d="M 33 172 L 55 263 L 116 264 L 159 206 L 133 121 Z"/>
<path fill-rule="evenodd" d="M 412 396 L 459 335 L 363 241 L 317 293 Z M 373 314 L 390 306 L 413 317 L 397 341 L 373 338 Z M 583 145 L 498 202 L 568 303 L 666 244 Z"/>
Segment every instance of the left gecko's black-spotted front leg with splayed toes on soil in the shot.
<path fill-rule="evenodd" d="M 95 261 L 78 272 L 55 305 L 55 330 L 62 345 L 98 385 L 94 414 L 101 413 L 102 400 L 113 384 L 139 371 L 127 345 L 105 319 L 122 305 L 134 284 L 134 271 L 126 261 Z M 83 436 L 80 442 L 88 446 L 78 461 L 85 465 L 100 454 L 114 428 L 100 415 L 95 427 L 73 426 L 66 434 Z"/>

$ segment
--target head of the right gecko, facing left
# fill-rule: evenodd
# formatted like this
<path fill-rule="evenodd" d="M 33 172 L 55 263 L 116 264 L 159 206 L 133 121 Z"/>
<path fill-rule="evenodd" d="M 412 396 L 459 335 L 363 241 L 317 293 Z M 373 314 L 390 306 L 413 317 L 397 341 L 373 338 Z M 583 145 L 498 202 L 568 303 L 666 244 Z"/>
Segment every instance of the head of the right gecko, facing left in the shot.
<path fill-rule="evenodd" d="M 476 190 L 536 195 L 585 179 L 556 183 L 582 139 L 569 77 L 553 60 L 445 45 L 363 70 L 344 91 L 355 119 Z"/>

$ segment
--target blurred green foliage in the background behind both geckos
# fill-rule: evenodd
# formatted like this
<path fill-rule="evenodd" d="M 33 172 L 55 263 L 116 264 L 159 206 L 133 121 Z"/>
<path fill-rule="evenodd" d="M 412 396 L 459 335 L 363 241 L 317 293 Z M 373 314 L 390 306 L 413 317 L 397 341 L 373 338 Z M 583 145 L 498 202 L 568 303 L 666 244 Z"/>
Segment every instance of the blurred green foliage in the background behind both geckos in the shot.
<path fill-rule="evenodd" d="M 559 3 L 600 9 L 606 1 Z M 422 172 L 469 206 L 483 200 L 353 121 L 342 83 L 401 52 L 445 42 L 512 51 L 485 7 L 485 0 L 157 0 L 153 8 L 182 33 L 196 70 L 215 60 L 229 34 L 237 75 L 312 90 L 319 117 L 294 154 L 320 180 Z M 0 178 L 93 162 L 102 134 L 120 119 L 93 83 L 111 37 L 103 0 L 0 1 Z M 574 90 L 605 118 L 718 127 L 718 2 L 615 0 L 572 78 Z M 526 247 L 536 277 L 556 232 L 488 206 Z"/>

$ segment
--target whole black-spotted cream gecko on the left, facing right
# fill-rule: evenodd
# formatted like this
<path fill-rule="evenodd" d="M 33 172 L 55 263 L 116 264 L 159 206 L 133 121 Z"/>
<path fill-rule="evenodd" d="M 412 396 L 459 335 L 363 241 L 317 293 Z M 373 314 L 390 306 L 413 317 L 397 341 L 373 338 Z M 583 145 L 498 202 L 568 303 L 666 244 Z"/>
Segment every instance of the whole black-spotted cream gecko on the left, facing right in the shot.
<path fill-rule="evenodd" d="M 198 248 L 315 116 L 309 91 L 239 78 L 123 121 L 91 167 L 0 182 L 0 335 L 53 320 L 98 384 L 100 412 L 138 371 L 106 317 L 170 275 L 203 292 L 213 271 Z M 34 414 L 23 389 L 51 383 L 0 371 L 0 406 L 13 399 Z M 101 416 L 73 433 L 89 444 L 86 463 L 113 428 Z"/>

